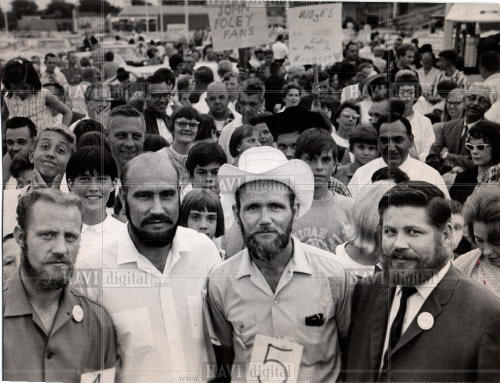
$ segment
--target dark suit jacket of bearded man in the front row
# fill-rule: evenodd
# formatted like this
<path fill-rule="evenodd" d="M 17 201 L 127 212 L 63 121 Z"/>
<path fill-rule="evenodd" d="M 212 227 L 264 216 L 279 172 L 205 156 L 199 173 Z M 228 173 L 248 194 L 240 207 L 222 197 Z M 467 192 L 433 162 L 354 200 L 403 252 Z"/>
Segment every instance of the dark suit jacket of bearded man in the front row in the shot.
<path fill-rule="evenodd" d="M 374 278 L 354 290 L 344 381 L 500 381 L 500 300 L 453 265 L 379 373 L 391 297 L 382 273 Z M 434 318 L 428 330 L 417 324 L 421 312 Z"/>

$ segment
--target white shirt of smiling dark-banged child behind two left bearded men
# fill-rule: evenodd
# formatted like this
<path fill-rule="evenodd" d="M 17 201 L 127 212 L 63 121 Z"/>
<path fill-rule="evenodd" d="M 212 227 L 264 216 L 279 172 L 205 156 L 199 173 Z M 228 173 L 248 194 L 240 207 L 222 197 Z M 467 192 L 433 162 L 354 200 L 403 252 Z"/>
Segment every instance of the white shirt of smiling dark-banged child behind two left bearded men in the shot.
<path fill-rule="evenodd" d="M 101 250 L 115 241 L 115 234 L 125 224 L 111 215 L 106 215 L 104 220 L 94 225 L 85 223 L 81 226 L 80 247 L 76 256 L 76 266 L 82 259 L 90 255 L 100 254 Z"/>

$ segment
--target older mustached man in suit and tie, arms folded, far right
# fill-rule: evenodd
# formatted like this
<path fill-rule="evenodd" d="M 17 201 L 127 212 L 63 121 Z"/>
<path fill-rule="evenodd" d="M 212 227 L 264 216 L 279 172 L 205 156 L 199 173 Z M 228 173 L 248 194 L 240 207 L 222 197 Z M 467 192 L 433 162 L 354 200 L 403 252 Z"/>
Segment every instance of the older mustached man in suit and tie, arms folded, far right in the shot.
<path fill-rule="evenodd" d="M 430 147 L 429 155 L 425 159 L 427 165 L 432 166 L 441 174 L 455 169 L 463 171 L 473 166 L 470 152 L 465 147 L 467 131 L 477 121 L 484 117 L 484 113 L 491 106 L 490 89 L 479 84 L 472 84 L 465 93 L 465 117 L 444 123 L 441 129 L 435 132 L 436 139 Z M 453 102 L 453 100 L 448 100 Z"/>

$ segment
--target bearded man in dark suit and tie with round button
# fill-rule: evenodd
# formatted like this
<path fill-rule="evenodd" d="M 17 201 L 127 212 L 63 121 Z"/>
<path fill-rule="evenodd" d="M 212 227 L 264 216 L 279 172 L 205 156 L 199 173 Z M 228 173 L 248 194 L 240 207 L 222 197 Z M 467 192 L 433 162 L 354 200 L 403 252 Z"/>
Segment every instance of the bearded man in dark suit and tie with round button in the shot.
<path fill-rule="evenodd" d="M 378 210 L 384 271 L 355 288 L 343 381 L 500 380 L 500 300 L 450 263 L 443 193 L 402 182 Z"/>

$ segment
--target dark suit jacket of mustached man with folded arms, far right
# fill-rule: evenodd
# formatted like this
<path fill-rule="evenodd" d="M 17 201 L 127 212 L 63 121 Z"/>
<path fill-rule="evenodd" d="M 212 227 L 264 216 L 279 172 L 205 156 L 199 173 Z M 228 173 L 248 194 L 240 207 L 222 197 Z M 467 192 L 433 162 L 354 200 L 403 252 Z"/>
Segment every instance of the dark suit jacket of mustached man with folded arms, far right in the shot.
<path fill-rule="evenodd" d="M 429 155 L 427 155 L 425 163 L 441 173 L 446 171 L 443 170 L 445 164 L 451 167 L 461 166 L 464 169 L 474 166 L 470 158 L 470 152 L 465 145 L 460 144 L 462 139 L 462 128 L 463 118 L 444 122 L 442 128 L 435 131 L 436 139 L 430 147 Z M 443 147 L 448 149 L 446 159 L 442 159 L 439 156 Z"/>

